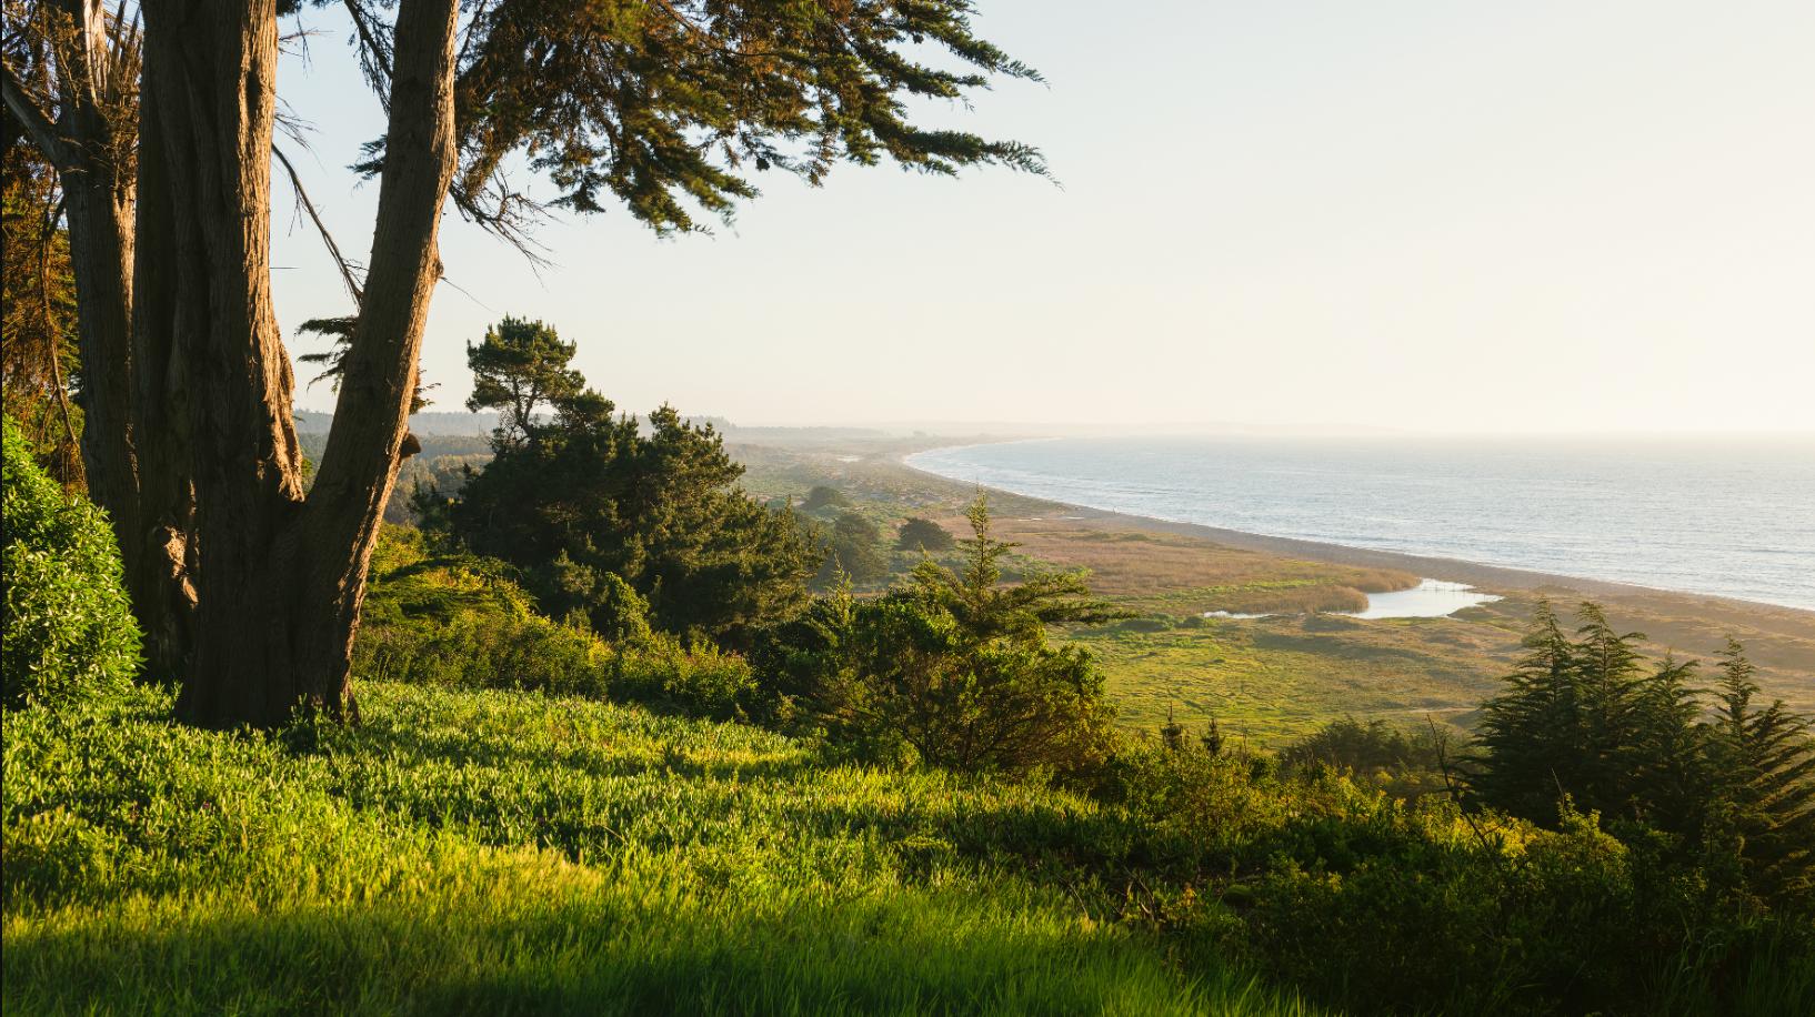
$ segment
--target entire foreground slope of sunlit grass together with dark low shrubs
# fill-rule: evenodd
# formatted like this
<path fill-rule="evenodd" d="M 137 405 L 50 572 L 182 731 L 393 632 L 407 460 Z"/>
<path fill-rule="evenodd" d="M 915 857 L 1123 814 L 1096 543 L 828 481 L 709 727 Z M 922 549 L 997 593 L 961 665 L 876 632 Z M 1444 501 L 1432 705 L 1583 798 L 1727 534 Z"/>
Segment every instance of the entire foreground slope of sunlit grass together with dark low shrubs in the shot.
<path fill-rule="evenodd" d="M 160 691 L 9 711 L 7 1012 L 1316 1012 L 1298 984 L 1350 1013 L 1790 1017 L 1815 992 L 1815 928 L 1574 810 L 1537 830 L 1189 745 L 1123 747 L 1085 798 L 572 698 L 359 702 L 274 736 L 174 727 Z"/>

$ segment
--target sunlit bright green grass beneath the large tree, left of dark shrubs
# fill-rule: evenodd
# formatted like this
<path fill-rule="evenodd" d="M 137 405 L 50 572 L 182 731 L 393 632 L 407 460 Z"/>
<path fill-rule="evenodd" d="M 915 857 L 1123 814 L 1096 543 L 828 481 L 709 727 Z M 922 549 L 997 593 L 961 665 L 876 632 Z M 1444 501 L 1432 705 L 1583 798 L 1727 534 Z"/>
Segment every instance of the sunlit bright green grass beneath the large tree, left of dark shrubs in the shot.
<path fill-rule="evenodd" d="M 7 1013 L 1301 1013 L 1044 877 L 1087 799 L 741 725 L 359 687 L 365 723 L 7 712 Z"/>

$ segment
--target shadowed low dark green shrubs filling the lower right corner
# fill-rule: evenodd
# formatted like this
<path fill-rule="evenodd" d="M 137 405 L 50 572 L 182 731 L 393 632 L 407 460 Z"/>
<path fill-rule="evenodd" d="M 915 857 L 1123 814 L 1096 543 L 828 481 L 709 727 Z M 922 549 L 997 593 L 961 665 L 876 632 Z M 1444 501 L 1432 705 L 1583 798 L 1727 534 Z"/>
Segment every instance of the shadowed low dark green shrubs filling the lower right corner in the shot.
<path fill-rule="evenodd" d="M 1191 747 L 1104 772 L 1140 830 L 1134 919 L 1350 1012 L 1788 1017 L 1815 992 L 1804 915 L 1733 908 L 1568 803 L 1545 830 Z"/>

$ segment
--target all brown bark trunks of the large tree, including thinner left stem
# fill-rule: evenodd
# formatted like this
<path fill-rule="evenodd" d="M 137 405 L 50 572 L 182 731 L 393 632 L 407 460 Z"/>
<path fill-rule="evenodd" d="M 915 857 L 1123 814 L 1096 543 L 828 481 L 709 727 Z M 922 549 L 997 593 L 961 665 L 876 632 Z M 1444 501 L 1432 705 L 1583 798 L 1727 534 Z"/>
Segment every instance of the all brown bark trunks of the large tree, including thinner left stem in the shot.
<path fill-rule="evenodd" d="M 399 4 L 370 272 L 307 500 L 270 299 L 276 2 L 145 0 L 136 207 L 96 100 L 103 7 L 62 4 L 83 40 L 62 116 L 11 73 L 5 102 L 69 196 L 85 459 L 152 671 L 182 680 L 178 716 L 198 725 L 270 727 L 298 705 L 343 716 L 372 546 L 414 451 L 456 160 L 457 0 Z"/>

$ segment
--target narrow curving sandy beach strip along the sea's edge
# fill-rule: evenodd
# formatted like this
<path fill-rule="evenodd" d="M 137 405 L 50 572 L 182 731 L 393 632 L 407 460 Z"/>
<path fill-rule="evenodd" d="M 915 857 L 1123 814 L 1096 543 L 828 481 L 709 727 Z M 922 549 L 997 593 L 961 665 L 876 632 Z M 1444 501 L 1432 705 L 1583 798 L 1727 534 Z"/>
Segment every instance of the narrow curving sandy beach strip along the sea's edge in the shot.
<path fill-rule="evenodd" d="M 980 442 L 964 442 L 960 446 L 937 446 L 937 448 L 969 448 Z M 966 484 L 966 480 L 946 477 L 931 470 L 924 470 L 908 462 L 909 457 L 922 451 L 935 451 L 935 448 L 915 450 L 909 453 L 900 453 L 895 457 L 897 464 L 904 470 L 918 473 L 922 477 L 935 479 L 942 484 Z M 1486 566 L 1481 562 L 1467 562 L 1461 558 L 1447 558 L 1437 555 L 1412 555 L 1405 551 L 1378 551 L 1369 547 L 1350 547 L 1345 544 L 1329 544 L 1323 540 L 1300 540 L 1292 537 L 1267 537 L 1261 533 L 1245 533 L 1240 529 L 1223 529 L 1218 526 L 1203 526 L 1198 522 L 1174 522 L 1167 518 L 1154 518 L 1147 515 L 1096 509 L 1089 506 L 1078 506 L 1069 502 L 1058 502 L 1044 499 L 1038 495 L 1022 495 L 1009 491 L 1006 488 L 991 488 L 980 484 L 984 491 L 995 495 L 1013 497 L 1024 502 L 1049 504 L 1067 515 L 1078 517 L 1080 520 L 1091 522 L 1113 522 L 1125 526 L 1129 529 L 1145 529 L 1156 533 L 1176 533 L 1183 537 L 1200 537 L 1212 540 L 1227 547 L 1240 547 L 1245 551 L 1261 551 L 1267 555 L 1280 555 L 1287 558 L 1305 558 L 1312 562 L 1329 562 L 1338 566 L 1367 566 L 1367 567 L 1388 567 L 1407 573 L 1414 573 L 1425 578 L 1436 578 L 1445 582 L 1461 582 L 1479 587 L 1488 593 L 1508 593 L 1508 591 L 1532 591 L 1532 593 L 1557 593 L 1557 595 L 1592 595 L 1595 598 L 1643 598 L 1643 600 L 1675 600 L 1683 605 L 1699 605 L 1702 609 L 1719 607 L 1722 611 L 1742 611 L 1751 616 L 1775 616 L 1781 622 L 1790 622 L 1795 625 L 1800 622 L 1808 625 L 1808 634 L 1815 636 L 1815 611 L 1806 611 L 1800 607 L 1788 607 L 1782 604 L 1766 604 L 1759 600 L 1741 600 L 1735 596 L 1719 596 L 1706 593 L 1686 593 L 1679 589 L 1657 589 L 1650 586 L 1597 580 L 1559 573 L 1543 573 L 1535 569 L 1519 569 L 1508 566 Z"/>

